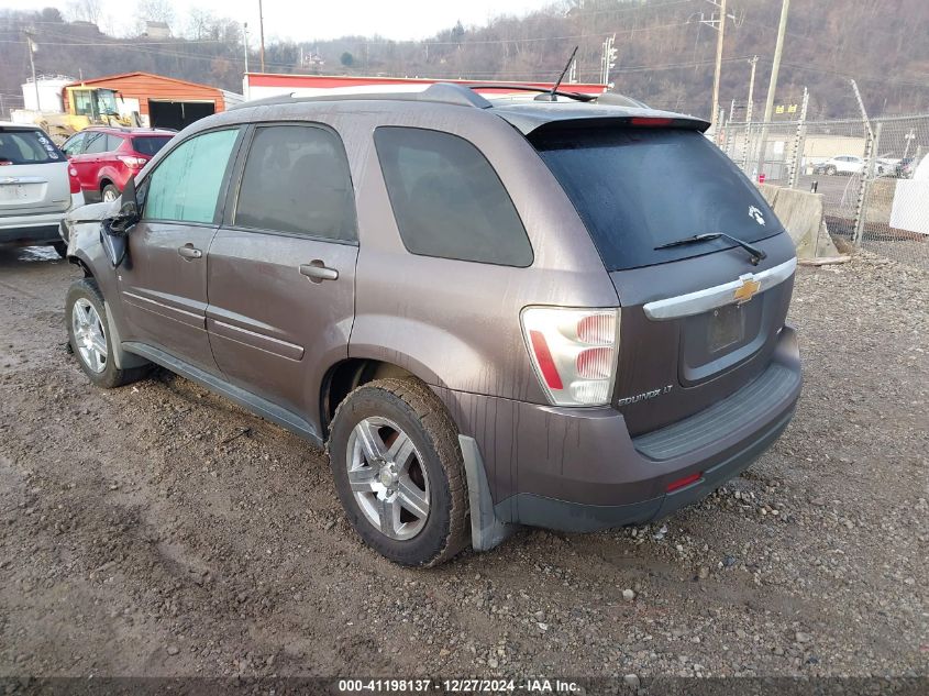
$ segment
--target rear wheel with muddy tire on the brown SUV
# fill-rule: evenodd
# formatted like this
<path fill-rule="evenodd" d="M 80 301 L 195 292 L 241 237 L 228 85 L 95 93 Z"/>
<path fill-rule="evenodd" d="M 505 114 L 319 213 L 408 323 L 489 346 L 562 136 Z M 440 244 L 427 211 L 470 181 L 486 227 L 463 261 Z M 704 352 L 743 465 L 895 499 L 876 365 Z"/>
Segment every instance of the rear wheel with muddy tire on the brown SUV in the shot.
<path fill-rule="evenodd" d="M 362 540 L 390 561 L 435 566 L 469 543 L 457 434 L 418 379 L 369 382 L 339 405 L 327 444 L 335 490 Z M 383 455 L 379 463 L 372 450 Z"/>

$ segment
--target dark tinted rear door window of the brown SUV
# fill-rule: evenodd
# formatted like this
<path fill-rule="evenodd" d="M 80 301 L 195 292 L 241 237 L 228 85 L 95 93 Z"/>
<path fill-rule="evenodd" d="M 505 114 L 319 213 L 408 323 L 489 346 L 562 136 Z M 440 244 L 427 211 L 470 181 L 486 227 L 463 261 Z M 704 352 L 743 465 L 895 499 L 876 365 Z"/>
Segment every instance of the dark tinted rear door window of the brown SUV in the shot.
<path fill-rule="evenodd" d="M 354 240 L 352 180 L 339 139 L 320 128 L 258 129 L 248 148 L 234 224 Z"/>

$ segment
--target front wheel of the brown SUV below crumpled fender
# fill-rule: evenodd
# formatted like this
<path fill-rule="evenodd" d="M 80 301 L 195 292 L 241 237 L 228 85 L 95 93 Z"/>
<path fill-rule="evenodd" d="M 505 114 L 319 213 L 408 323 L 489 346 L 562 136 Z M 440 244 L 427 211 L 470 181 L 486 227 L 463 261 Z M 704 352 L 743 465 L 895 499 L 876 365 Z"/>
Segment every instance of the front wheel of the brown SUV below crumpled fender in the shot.
<path fill-rule="evenodd" d="M 112 360 L 103 295 L 92 278 L 75 280 L 65 300 L 68 342 L 80 368 L 98 387 L 112 389 L 145 375 L 145 367 L 120 369 Z M 102 349 L 102 350 L 101 350 Z"/>

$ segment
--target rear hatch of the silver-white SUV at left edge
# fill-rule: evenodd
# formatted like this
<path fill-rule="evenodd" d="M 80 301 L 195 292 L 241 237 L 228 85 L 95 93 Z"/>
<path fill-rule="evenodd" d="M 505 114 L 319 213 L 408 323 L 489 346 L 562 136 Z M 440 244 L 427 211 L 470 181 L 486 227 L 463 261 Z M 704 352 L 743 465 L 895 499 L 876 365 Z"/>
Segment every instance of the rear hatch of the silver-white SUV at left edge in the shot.
<path fill-rule="evenodd" d="M 43 131 L 0 125 L 0 217 L 63 212 L 70 205 L 62 151 Z"/>

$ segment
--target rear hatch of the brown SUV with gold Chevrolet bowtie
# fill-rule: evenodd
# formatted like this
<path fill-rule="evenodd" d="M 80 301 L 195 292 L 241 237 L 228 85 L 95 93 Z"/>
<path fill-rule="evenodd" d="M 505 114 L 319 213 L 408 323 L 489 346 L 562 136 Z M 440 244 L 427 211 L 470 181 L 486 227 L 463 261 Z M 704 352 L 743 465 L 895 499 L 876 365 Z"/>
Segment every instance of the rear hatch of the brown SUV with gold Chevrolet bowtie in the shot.
<path fill-rule="evenodd" d="M 561 126 L 530 141 L 617 289 L 612 404 L 630 434 L 692 416 L 767 367 L 790 299 L 794 247 L 718 147 L 688 128 Z M 754 265 L 749 251 L 722 236 L 662 248 L 716 233 L 765 258 Z"/>

